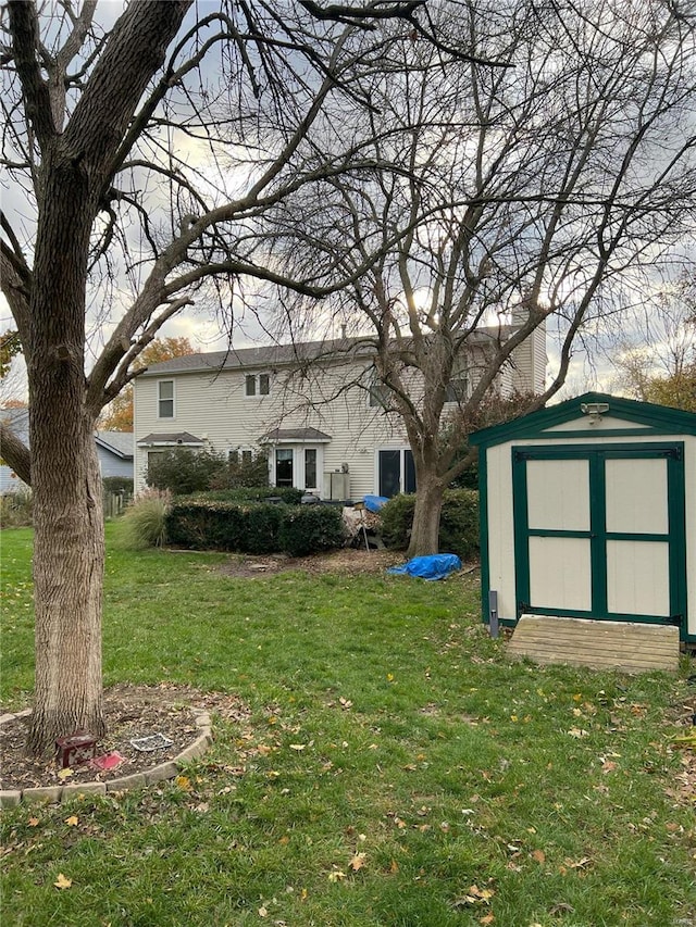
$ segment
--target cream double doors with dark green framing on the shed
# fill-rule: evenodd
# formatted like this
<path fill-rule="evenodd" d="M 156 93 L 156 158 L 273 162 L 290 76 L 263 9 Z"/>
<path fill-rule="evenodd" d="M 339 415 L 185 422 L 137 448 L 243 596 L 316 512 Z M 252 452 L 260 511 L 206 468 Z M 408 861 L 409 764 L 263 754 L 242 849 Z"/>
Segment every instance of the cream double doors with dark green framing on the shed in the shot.
<path fill-rule="evenodd" d="M 513 451 L 518 615 L 681 624 L 681 446 Z"/>

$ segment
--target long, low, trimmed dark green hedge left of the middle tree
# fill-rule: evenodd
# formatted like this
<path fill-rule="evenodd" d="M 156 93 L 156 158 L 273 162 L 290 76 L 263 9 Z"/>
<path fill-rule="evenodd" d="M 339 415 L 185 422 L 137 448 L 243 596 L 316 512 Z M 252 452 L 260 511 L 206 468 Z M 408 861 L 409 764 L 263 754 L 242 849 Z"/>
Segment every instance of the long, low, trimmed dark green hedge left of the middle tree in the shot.
<path fill-rule="evenodd" d="M 166 517 L 169 542 L 192 550 L 303 556 L 340 547 L 340 511 L 332 505 L 275 505 L 179 499 Z"/>

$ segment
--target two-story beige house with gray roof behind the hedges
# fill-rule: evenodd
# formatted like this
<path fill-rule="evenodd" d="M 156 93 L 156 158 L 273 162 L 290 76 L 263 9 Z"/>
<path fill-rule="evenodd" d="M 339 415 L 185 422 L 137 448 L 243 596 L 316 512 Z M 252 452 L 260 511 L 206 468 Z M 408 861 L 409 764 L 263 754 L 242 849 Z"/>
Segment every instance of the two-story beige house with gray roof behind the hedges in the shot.
<path fill-rule="evenodd" d="M 511 327 L 502 330 L 509 337 Z M 501 329 L 476 333 L 450 384 L 452 410 Z M 374 351 L 359 338 L 189 354 L 154 364 L 134 383 L 136 490 L 148 460 L 176 448 L 239 460 L 264 449 L 271 486 L 322 499 L 415 490 L 400 417 L 384 405 Z M 545 333 L 515 349 L 500 391 L 542 391 Z M 414 380 L 414 389 L 418 391 Z"/>

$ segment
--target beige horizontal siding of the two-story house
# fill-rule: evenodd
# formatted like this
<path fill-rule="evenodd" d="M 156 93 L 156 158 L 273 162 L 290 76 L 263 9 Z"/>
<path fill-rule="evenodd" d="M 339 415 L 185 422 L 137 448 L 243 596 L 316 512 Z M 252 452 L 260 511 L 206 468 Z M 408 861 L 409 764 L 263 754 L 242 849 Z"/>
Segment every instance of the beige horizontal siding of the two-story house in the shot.
<path fill-rule="evenodd" d="M 506 331 L 484 333 L 469 346 L 465 371 L 462 371 L 469 388 L 489 363 L 490 346 Z M 542 337 L 539 329 L 536 338 Z M 315 350 L 318 347 L 320 350 Z M 525 346 L 517 349 L 523 353 L 530 350 Z M 302 362 L 304 356 L 309 360 Z M 509 367 L 510 372 L 515 369 L 512 364 Z M 508 379 L 512 375 L 510 372 L 505 374 Z M 278 346 L 164 362 L 135 381 L 136 487 L 144 486 L 148 452 L 157 449 L 138 444 L 147 436 L 186 433 L 197 439 L 197 446 L 227 455 L 233 450 L 256 450 L 265 436 L 281 429 L 283 434 L 276 436 L 277 447 L 286 452 L 293 448 L 293 479 L 299 488 L 311 488 L 322 498 L 331 498 L 332 484 L 345 484 L 347 479 L 348 486 L 341 486 L 341 498 L 360 499 L 378 493 L 380 451 L 399 451 L 400 488 L 403 490 L 406 430 L 396 413 L 370 404 L 368 388 L 373 375 L 372 355 L 351 350 L 349 342 L 347 348 L 343 342 L 338 347 L 331 343 L 327 347 L 295 346 L 295 350 L 291 346 Z M 254 396 L 247 396 L 247 377 L 257 378 Z M 266 377 L 270 391 L 262 394 Z M 417 405 L 423 399 L 419 377 L 413 369 L 410 381 L 405 384 Z M 161 392 L 160 384 L 165 384 Z M 531 388 L 531 384 L 525 387 Z M 505 384 L 501 389 L 506 391 Z M 450 406 L 455 408 L 456 404 Z M 173 416 L 160 417 L 161 411 L 172 410 Z M 445 418 L 447 414 L 446 406 Z M 298 435 L 291 439 L 288 430 L 297 429 L 313 429 L 323 437 L 313 443 L 308 436 L 303 440 Z M 153 443 L 157 444 L 157 438 Z M 275 444 L 269 442 L 266 447 L 272 452 L 270 477 L 275 483 Z M 309 449 L 316 451 L 319 469 L 318 485 L 312 487 L 303 474 L 304 451 Z M 338 480 L 331 476 L 335 473 L 348 476 Z"/>

